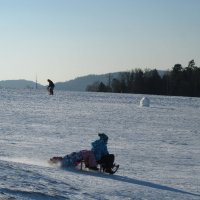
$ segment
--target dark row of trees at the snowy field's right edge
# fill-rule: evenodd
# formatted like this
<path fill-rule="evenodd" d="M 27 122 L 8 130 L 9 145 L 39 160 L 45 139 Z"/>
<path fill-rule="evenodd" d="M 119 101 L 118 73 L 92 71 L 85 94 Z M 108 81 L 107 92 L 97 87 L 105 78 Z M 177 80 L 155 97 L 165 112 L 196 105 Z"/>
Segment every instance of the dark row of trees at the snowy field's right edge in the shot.
<path fill-rule="evenodd" d="M 86 91 L 200 97 L 200 67 L 191 60 L 187 67 L 175 64 L 163 75 L 156 69 L 135 69 L 121 73 L 119 78 L 109 76 L 107 84 L 88 85 Z"/>

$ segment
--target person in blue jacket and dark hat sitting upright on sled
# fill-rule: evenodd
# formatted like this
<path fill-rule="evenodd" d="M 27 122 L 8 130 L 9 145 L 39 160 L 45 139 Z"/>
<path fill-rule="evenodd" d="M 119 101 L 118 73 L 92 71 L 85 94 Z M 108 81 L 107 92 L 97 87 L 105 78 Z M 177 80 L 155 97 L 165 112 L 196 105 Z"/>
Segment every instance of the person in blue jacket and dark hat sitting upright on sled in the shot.
<path fill-rule="evenodd" d="M 108 136 L 104 133 L 99 133 L 98 136 L 99 139 L 92 142 L 96 162 L 102 166 L 104 172 L 114 174 L 119 166 L 114 164 L 115 156 L 108 152 Z"/>

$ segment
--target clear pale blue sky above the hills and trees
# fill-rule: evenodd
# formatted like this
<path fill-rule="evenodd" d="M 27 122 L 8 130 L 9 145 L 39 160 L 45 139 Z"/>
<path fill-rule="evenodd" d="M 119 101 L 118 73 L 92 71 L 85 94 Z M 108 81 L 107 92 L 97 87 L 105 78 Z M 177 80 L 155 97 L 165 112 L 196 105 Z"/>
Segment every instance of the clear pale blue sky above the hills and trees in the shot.
<path fill-rule="evenodd" d="M 200 0 L 0 0 L 0 80 L 200 66 Z"/>

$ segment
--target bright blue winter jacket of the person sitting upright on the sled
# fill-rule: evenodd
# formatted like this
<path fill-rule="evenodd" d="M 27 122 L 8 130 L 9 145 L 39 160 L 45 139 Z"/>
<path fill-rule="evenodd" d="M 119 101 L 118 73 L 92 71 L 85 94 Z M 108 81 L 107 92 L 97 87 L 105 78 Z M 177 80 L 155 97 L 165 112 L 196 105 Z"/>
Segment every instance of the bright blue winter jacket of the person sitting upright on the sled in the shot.
<path fill-rule="evenodd" d="M 101 160 L 103 156 L 109 154 L 107 144 L 101 139 L 92 142 L 92 151 L 94 152 L 96 161 Z"/>

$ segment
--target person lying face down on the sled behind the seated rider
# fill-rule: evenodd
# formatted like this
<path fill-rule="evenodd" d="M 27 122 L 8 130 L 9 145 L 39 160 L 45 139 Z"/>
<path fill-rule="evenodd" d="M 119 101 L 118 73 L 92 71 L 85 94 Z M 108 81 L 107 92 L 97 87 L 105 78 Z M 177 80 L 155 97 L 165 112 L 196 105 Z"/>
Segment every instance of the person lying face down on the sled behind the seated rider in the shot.
<path fill-rule="evenodd" d="M 81 150 L 78 152 L 72 152 L 64 157 L 56 156 L 50 159 L 50 163 L 60 163 L 61 167 L 76 167 L 84 160 L 85 167 L 91 170 L 98 170 L 97 162 L 95 160 L 94 153 L 90 150 Z"/>

